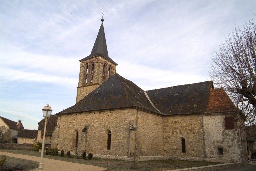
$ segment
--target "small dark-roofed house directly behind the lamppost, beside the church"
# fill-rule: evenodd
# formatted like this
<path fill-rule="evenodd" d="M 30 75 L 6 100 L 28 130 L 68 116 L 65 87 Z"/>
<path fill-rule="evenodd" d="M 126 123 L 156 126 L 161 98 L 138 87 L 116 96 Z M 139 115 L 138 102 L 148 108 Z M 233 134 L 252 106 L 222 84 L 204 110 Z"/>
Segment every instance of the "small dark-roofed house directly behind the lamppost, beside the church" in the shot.
<path fill-rule="evenodd" d="M 51 115 L 48 118 L 47 125 L 46 125 L 46 136 L 45 136 L 45 144 L 51 144 L 52 135 L 57 125 L 58 116 Z M 37 142 L 42 142 L 42 138 L 44 135 L 44 128 L 45 128 L 45 119 L 42 119 L 38 122 L 38 133 L 37 133 Z"/>

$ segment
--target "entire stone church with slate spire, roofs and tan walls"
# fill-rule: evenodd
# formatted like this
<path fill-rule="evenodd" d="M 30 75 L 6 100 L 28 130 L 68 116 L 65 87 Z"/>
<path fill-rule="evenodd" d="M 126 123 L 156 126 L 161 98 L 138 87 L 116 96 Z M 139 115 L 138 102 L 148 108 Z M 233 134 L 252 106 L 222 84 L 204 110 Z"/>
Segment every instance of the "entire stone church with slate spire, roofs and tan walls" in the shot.
<path fill-rule="evenodd" d="M 103 19 L 91 54 L 80 60 L 76 104 L 56 115 L 52 147 L 139 161 L 247 159 L 241 111 L 212 81 L 144 91 L 116 73 Z"/>

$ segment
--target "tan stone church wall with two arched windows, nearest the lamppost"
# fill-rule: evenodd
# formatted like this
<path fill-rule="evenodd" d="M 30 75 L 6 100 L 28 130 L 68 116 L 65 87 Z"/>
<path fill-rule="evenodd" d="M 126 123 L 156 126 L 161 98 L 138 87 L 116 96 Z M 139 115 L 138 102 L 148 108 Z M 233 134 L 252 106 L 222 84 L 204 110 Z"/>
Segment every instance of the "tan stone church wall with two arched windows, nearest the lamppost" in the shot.
<path fill-rule="evenodd" d="M 78 131 L 78 149 L 87 153 L 127 156 L 129 151 L 130 121 L 136 120 L 135 109 L 91 112 L 62 115 L 53 133 L 52 147 L 74 152 L 76 150 L 76 131 Z M 60 120 L 60 121 L 59 121 Z M 87 126 L 86 132 L 82 130 Z M 107 150 L 107 133 L 111 131 L 111 149 Z"/>

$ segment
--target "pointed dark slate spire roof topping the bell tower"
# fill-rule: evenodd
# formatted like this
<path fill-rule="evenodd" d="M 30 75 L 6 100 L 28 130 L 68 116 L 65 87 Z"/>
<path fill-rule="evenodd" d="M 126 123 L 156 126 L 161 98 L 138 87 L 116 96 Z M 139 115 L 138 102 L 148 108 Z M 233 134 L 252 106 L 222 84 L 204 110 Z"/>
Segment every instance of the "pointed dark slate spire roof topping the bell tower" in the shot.
<path fill-rule="evenodd" d="M 103 27 L 103 23 L 101 23 L 100 25 L 100 29 L 97 35 L 97 38 L 95 40 L 95 43 L 93 45 L 91 54 L 82 60 L 86 60 L 89 59 L 91 57 L 94 56 L 98 56 L 101 55 L 102 57 L 106 58 L 107 60 L 111 61 L 112 63 L 114 63 L 115 65 L 117 65 L 117 63 L 115 63 L 115 61 L 113 61 L 109 56 L 108 56 L 108 52 L 107 52 L 107 43 L 106 43 L 106 37 L 105 37 L 105 32 L 104 32 L 104 27 Z"/>

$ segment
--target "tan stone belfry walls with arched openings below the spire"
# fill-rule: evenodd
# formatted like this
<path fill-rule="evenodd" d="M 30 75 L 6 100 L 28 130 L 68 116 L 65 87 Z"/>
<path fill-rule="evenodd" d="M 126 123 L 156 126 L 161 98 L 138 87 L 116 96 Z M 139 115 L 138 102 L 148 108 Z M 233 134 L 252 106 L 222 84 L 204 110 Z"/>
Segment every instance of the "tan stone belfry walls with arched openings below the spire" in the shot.
<path fill-rule="evenodd" d="M 91 82 L 91 64 L 92 63 L 94 63 L 94 76 Z M 84 72 L 87 64 L 89 65 L 89 73 L 88 73 L 88 81 L 85 84 Z M 79 72 L 76 103 L 79 102 L 86 95 L 91 93 L 93 90 L 95 90 L 97 87 L 99 87 L 103 83 L 102 73 L 103 73 L 104 64 L 106 64 L 106 68 L 108 68 L 109 66 L 112 68 L 111 75 L 113 75 L 116 71 L 116 65 L 101 56 L 95 56 L 91 59 L 83 60 L 80 62 L 80 72 Z M 107 72 L 105 74 L 107 74 Z"/>

